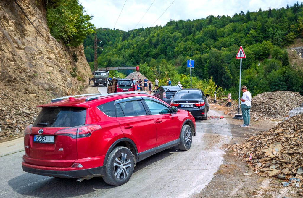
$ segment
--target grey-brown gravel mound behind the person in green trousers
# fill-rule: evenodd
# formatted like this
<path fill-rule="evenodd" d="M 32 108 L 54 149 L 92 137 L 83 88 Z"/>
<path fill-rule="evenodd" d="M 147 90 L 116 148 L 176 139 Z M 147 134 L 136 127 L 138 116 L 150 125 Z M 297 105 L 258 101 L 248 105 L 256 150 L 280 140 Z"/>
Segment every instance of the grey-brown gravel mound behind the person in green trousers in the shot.
<path fill-rule="evenodd" d="M 250 116 L 255 120 L 285 118 L 290 110 L 301 104 L 303 104 L 303 96 L 298 92 L 264 92 L 251 99 Z M 238 108 L 235 108 L 229 114 L 233 115 L 237 110 Z"/>

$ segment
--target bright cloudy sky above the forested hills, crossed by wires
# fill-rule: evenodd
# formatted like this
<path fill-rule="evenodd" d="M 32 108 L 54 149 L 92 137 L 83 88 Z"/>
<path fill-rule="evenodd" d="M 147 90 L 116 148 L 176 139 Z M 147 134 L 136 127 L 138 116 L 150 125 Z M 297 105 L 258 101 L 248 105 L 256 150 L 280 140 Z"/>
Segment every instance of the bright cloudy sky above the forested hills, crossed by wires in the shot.
<path fill-rule="evenodd" d="M 297 0 L 175 0 L 175 2 L 174 0 L 126 0 L 126 3 L 125 0 L 79 1 L 89 15 L 94 15 L 91 22 L 96 28 L 114 29 L 115 27 L 115 29 L 124 31 L 156 25 L 163 26 L 170 19 L 178 21 L 180 19 L 187 20 L 188 18 L 191 20 L 206 18 L 209 15 L 232 16 L 242 10 L 246 13 L 248 10 L 251 12 L 257 11 L 259 7 L 262 10 L 268 10 L 269 6 L 271 6 L 271 9 L 282 8 L 286 7 L 287 4 L 292 6 L 297 2 Z M 122 10 L 124 3 L 125 6 Z M 168 8 L 169 5 L 171 6 Z M 167 8 L 168 10 L 161 16 Z M 121 10 L 122 13 L 118 19 Z M 147 10 L 148 12 L 145 14 Z M 160 16 L 161 18 L 159 18 Z M 142 20 L 138 24 L 141 18 Z M 115 25 L 117 19 L 118 22 Z"/>

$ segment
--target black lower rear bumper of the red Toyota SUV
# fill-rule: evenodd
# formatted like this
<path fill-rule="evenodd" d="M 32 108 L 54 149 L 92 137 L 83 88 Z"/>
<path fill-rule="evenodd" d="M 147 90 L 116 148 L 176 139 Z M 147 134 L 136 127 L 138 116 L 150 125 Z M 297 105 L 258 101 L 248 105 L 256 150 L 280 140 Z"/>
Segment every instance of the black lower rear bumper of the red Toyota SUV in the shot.
<path fill-rule="evenodd" d="M 27 173 L 33 173 L 37 175 L 44 175 L 44 176 L 51 176 L 51 177 L 61 177 L 61 178 L 79 178 L 79 177 L 86 177 L 86 176 L 105 176 L 105 166 L 99 166 L 95 168 L 90 169 L 81 169 L 75 168 L 78 170 L 58 170 L 58 167 L 56 170 L 45 170 L 51 169 L 52 167 L 45 167 L 45 166 L 36 166 L 32 164 L 28 164 L 25 162 L 22 162 L 22 169 L 23 171 Z"/>

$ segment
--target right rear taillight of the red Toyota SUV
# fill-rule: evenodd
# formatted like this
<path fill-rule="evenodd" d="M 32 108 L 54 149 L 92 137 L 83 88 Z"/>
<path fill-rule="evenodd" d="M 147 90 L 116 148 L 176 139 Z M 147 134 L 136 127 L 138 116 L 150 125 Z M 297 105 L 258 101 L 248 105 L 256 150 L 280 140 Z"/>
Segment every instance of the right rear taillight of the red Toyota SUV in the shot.
<path fill-rule="evenodd" d="M 58 130 L 55 134 L 71 138 L 89 137 L 95 130 L 102 129 L 100 125 L 82 125 Z"/>

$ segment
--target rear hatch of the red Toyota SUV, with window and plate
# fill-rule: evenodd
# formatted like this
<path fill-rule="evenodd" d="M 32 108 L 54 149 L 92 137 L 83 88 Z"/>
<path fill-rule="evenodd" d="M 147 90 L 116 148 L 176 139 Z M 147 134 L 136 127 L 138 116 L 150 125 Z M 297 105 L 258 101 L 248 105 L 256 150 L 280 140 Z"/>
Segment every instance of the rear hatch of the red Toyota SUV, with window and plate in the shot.
<path fill-rule="evenodd" d="M 26 163 L 38 166 L 69 167 L 77 158 L 77 139 L 58 130 L 84 125 L 86 109 L 45 107 L 32 127 L 25 129 Z M 27 133 L 27 134 L 26 134 Z"/>

